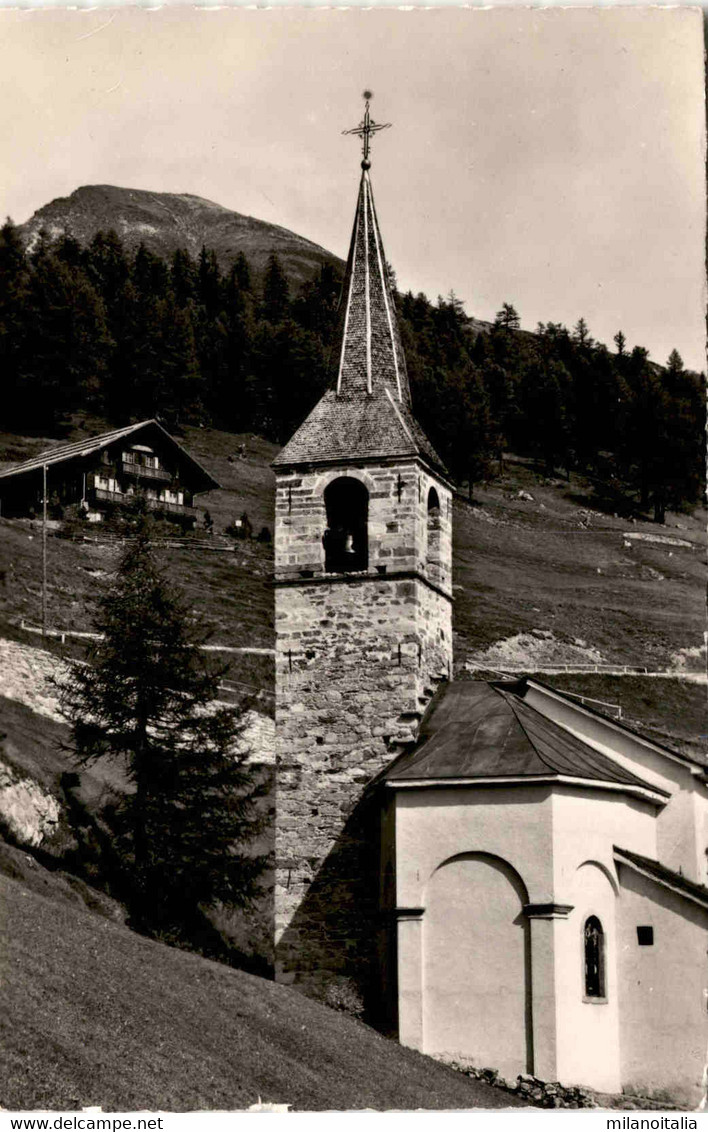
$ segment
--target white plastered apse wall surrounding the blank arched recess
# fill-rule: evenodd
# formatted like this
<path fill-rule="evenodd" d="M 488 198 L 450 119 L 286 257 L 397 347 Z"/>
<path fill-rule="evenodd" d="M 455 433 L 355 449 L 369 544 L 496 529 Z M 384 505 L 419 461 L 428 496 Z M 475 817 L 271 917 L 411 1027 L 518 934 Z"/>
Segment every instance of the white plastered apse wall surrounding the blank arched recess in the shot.
<path fill-rule="evenodd" d="M 530 919 L 534 1072 L 548 1080 L 619 1089 L 613 893 L 616 874 L 612 847 L 622 841 L 634 852 L 652 856 L 656 807 L 598 789 L 519 784 L 400 789 L 395 809 L 395 899 L 403 912 L 398 923 L 401 1041 L 424 1052 L 445 1052 L 429 1044 L 440 1040 L 438 1021 L 433 1028 L 435 1034 L 429 1026 L 426 1030 L 426 931 L 433 938 L 426 916 L 435 914 L 432 882 L 445 863 L 461 855 L 486 855 L 518 874 L 529 904 L 575 909 L 568 918 L 552 914 Z M 481 872 L 478 883 L 478 912 L 484 916 L 485 900 L 493 904 L 500 890 L 497 886 L 493 892 Z M 589 915 L 598 916 L 606 933 L 606 1004 L 582 1001 L 582 925 Z M 450 952 L 457 954 L 457 935 L 459 924 L 454 917 L 447 925 L 436 925 L 436 951 L 444 953 L 447 942 Z M 518 977 L 519 955 L 512 953 L 511 941 L 509 946 L 509 967 Z M 503 967 L 502 957 L 500 969 Z M 498 1063 L 513 1075 L 504 1058 L 519 1057 L 518 1044 L 507 1045 L 509 1049 L 502 1036 L 496 1047 Z M 469 1053 L 475 1060 L 475 1052 Z M 515 1071 L 527 1069 L 527 1064 L 518 1064 Z"/>

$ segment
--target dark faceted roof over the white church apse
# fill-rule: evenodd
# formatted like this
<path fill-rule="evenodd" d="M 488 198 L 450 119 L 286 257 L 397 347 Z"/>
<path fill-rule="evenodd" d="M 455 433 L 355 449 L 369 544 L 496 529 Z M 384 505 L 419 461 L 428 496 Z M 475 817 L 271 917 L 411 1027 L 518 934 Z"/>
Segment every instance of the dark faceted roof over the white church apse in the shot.
<path fill-rule="evenodd" d="M 386 771 L 391 783 L 459 780 L 583 780 L 656 800 L 666 791 L 541 715 L 513 692 L 483 680 L 443 685 L 423 720 L 413 751 Z"/>

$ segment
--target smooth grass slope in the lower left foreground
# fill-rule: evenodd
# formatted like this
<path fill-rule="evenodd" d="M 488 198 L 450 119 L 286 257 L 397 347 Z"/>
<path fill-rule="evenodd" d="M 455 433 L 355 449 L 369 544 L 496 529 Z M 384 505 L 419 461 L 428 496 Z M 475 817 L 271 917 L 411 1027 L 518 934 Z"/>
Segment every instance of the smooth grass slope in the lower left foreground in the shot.
<path fill-rule="evenodd" d="M 288 987 L 94 915 L 23 857 L 0 851 L 6 1109 L 520 1104 Z"/>

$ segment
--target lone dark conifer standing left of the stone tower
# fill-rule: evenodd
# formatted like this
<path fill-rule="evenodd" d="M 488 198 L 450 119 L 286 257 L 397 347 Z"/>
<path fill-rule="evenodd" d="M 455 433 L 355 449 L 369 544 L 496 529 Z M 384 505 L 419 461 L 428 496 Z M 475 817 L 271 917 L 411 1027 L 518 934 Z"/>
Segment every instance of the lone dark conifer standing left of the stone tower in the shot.
<path fill-rule="evenodd" d="M 194 942 L 211 908 L 248 906 L 257 892 L 263 859 L 249 842 L 262 791 L 239 743 L 240 711 L 214 706 L 223 669 L 206 661 L 154 557 L 144 504 L 136 511 L 135 537 L 99 602 L 102 637 L 89 663 L 72 667 L 61 703 L 78 762 L 114 760 L 134 788 L 116 821 L 131 923 Z"/>

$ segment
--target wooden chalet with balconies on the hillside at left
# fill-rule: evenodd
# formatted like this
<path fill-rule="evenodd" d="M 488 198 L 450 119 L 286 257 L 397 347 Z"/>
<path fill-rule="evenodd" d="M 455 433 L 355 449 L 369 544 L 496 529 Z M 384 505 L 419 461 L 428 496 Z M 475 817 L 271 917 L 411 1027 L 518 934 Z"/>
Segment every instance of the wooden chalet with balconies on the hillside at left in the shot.
<path fill-rule="evenodd" d="M 195 525 L 195 496 L 220 484 L 156 420 L 41 452 L 0 471 L 0 514 L 26 517 L 42 511 L 43 469 L 48 500 L 78 506 L 100 523 L 117 505 L 143 491 L 148 507 L 185 529 Z"/>

